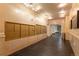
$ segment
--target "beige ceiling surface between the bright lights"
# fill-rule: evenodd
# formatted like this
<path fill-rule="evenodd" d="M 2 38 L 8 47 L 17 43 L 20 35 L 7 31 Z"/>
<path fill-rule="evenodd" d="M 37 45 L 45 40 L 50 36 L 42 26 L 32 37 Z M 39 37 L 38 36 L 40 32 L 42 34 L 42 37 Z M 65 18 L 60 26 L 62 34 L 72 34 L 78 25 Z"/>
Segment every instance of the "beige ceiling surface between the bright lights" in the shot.
<path fill-rule="evenodd" d="M 35 12 L 36 15 L 48 12 L 53 16 L 53 19 L 61 19 L 63 17 L 59 17 L 59 11 L 61 11 L 62 9 L 65 10 L 66 11 L 65 16 L 66 16 L 69 13 L 72 4 L 68 3 L 66 6 L 62 8 L 58 8 L 59 3 L 39 3 L 39 5 L 42 6 L 42 9 Z"/>

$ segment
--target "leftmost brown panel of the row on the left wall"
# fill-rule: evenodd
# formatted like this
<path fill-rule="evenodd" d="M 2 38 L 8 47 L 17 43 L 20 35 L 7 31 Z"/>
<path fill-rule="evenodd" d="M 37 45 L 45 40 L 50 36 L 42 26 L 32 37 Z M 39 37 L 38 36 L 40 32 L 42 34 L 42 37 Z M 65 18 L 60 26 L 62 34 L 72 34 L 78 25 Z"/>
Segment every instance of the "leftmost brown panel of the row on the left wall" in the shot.
<path fill-rule="evenodd" d="M 10 23 L 10 22 L 5 23 L 5 35 L 6 35 L 5 40 L 6 41 L 14 39 L 14 35 L 15 35 L 14 28 L 15 28 L 14 23 Z"/>

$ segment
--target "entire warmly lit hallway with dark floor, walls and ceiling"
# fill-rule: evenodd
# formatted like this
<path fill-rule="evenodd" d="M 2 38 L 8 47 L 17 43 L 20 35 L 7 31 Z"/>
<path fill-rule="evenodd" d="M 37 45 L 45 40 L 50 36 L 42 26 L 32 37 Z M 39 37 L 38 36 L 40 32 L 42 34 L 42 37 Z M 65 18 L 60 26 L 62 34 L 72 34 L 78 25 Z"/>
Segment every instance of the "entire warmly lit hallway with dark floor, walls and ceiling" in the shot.
<path fill-rule="evenodd" d="M 79 4 L 0 4 L 0 56 L 77 56 L 78 35 Z"/>

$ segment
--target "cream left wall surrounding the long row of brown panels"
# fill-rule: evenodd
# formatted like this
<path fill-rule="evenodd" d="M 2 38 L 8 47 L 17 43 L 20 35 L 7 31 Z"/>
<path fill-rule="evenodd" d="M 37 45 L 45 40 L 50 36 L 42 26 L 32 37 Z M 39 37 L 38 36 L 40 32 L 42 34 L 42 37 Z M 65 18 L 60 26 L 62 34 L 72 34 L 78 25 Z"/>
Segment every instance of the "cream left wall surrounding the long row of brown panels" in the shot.
<path fill-rule="evenodd" d="M 23 4 L 0 4 L 0 55 L 9 55 L 47 37 L 47 34 L 40 34 L 5 41 L 6 21 L 31 25 L 47 25 L 47 21 L 45 19 L 35 20 L 35 17 L 33 16 L 34 12 L 28 8 L 25 8 Z"/>

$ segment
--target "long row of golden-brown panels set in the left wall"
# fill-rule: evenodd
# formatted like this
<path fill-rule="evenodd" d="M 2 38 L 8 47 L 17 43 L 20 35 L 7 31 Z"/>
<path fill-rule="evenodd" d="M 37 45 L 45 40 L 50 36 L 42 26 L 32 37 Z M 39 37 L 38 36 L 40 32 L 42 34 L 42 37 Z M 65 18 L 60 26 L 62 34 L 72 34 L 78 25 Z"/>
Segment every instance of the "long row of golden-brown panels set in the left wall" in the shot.
<path fill-rule="evenodd" d="M 44 25 L 5 22 L 6 41 L 44 33 L 47 33 L 47 28 Z"/>

